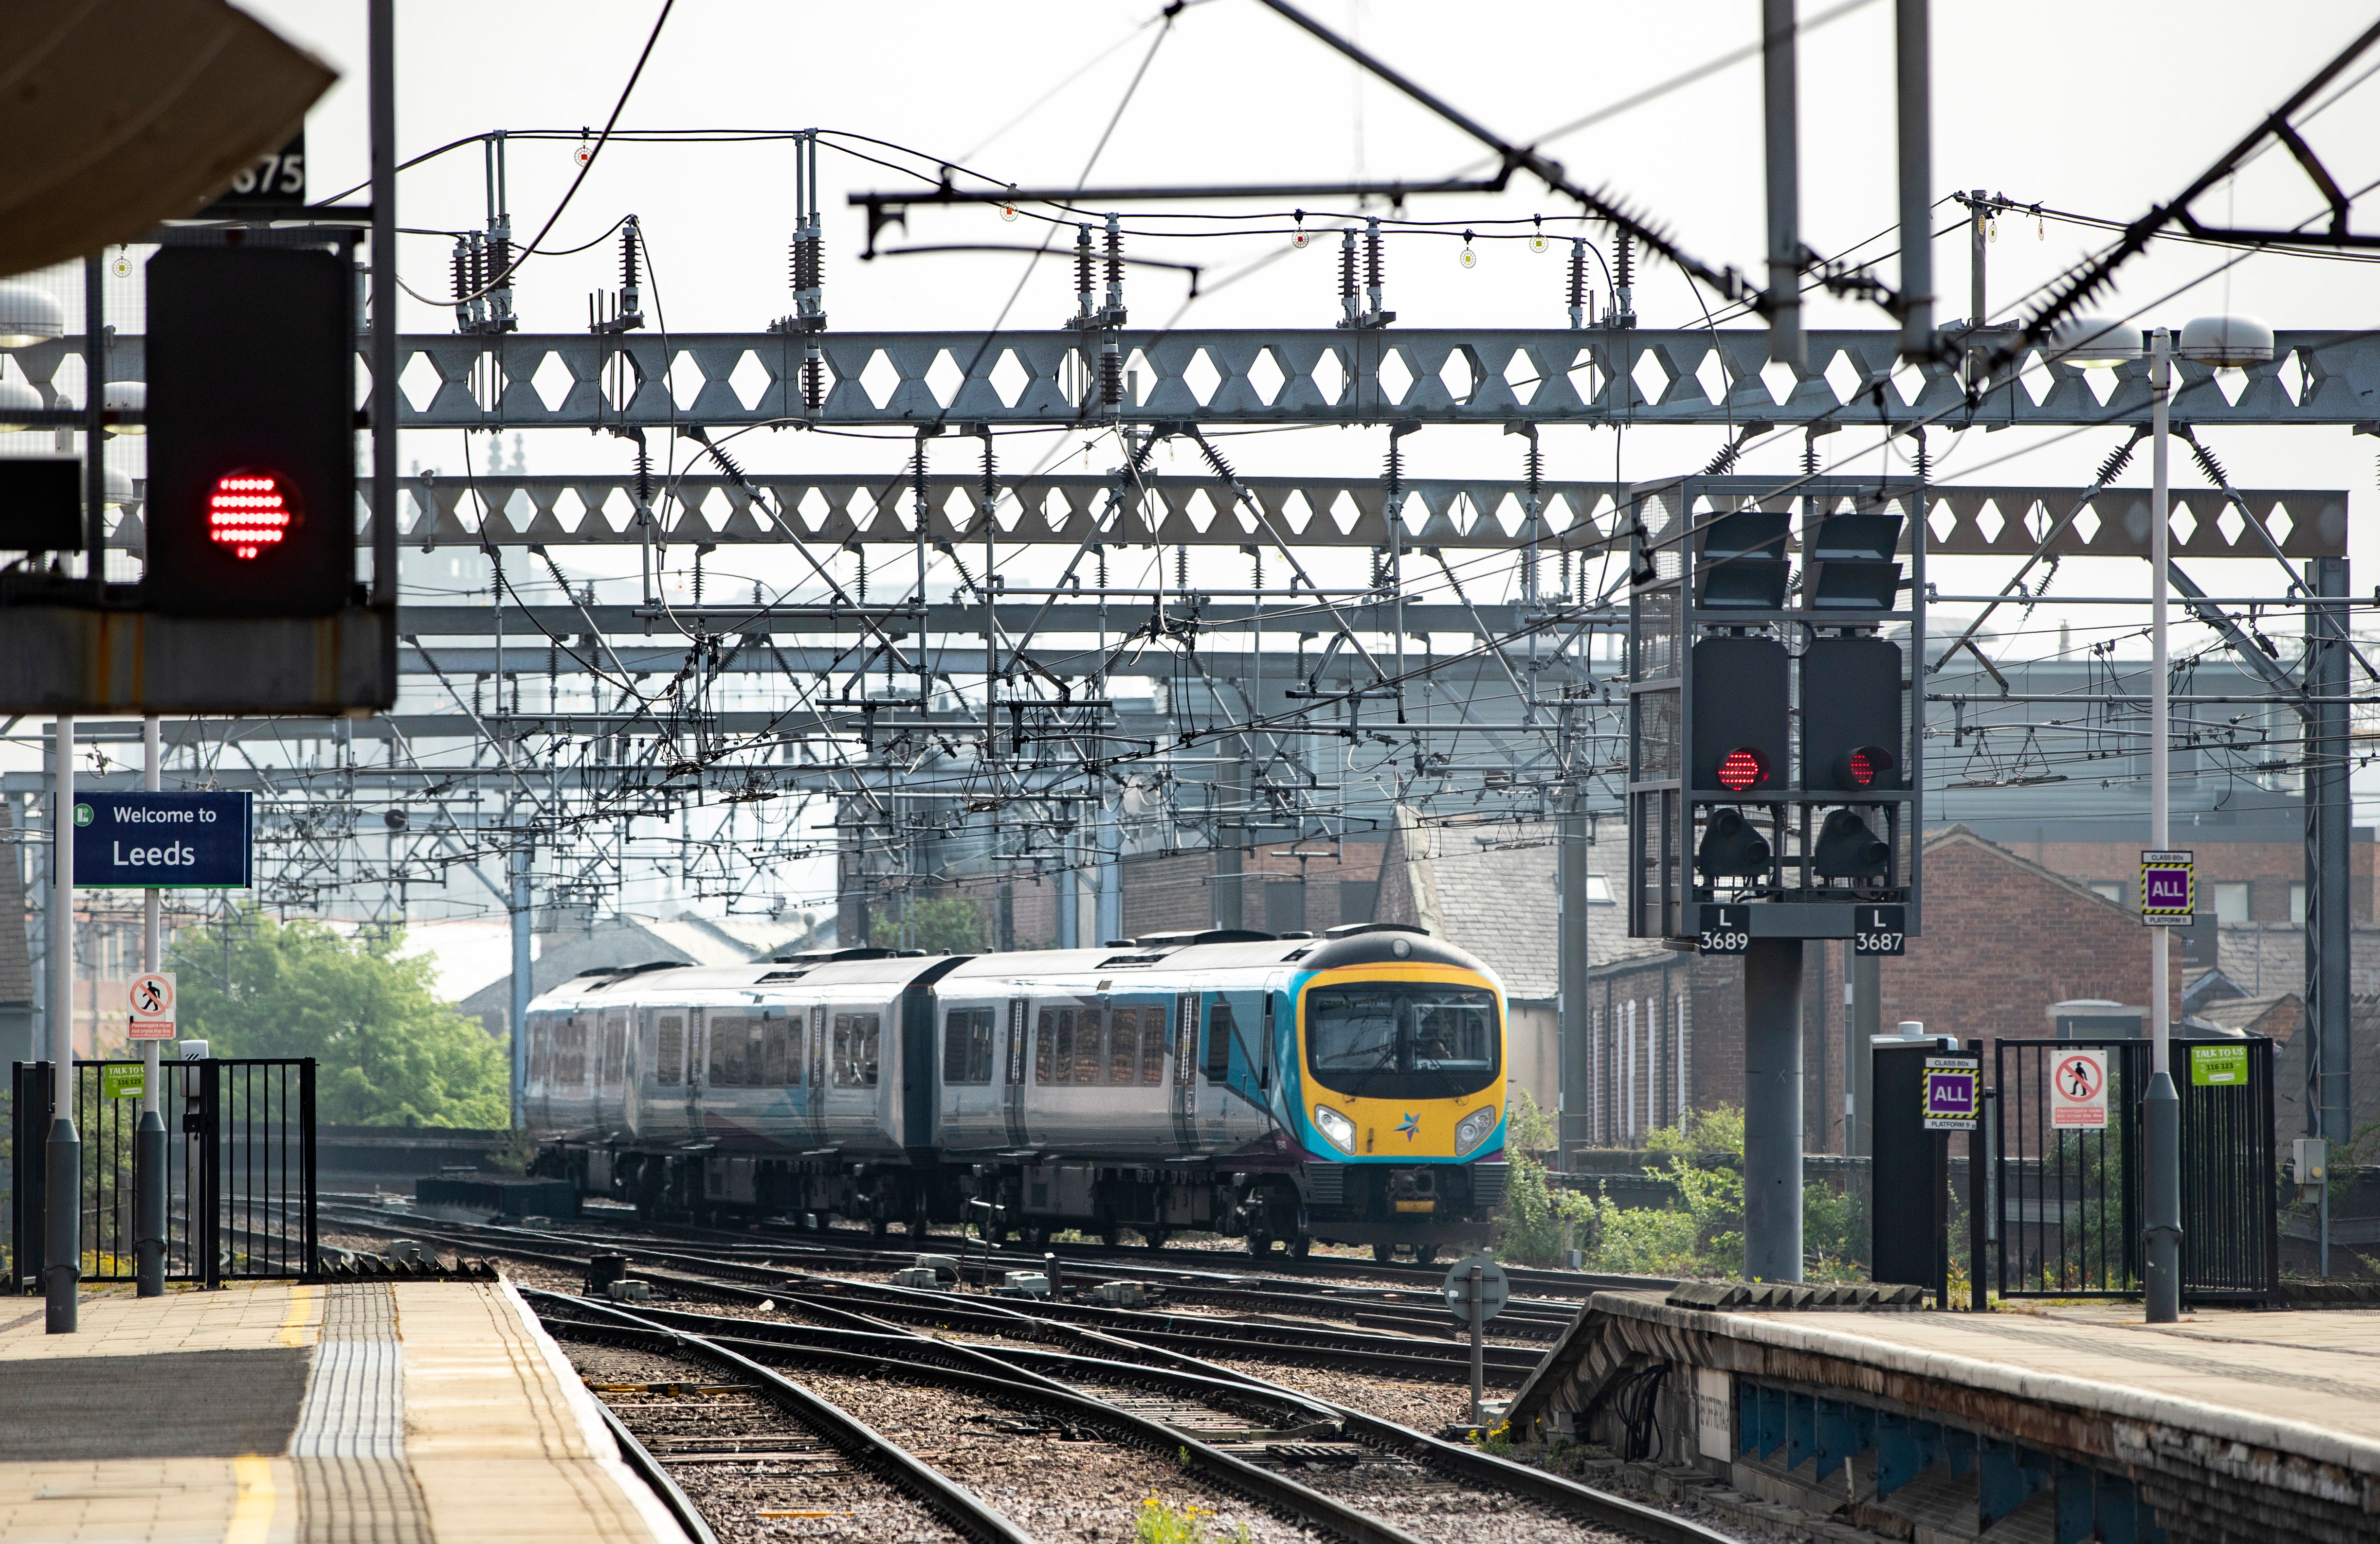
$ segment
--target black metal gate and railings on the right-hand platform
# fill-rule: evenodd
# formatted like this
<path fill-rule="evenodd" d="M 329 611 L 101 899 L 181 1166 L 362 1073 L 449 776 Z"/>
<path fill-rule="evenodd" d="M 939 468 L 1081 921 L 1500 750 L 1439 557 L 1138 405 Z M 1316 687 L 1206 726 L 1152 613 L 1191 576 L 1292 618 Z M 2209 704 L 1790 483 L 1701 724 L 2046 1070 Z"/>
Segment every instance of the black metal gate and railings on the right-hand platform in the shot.
<path fill-rule="evenodd" d="M 2266 1301 L 2280 1292 L 2273 1168 L 2273 1042 L 2247 1049 L 2244 1082 L 2197 1085 L 2173 1042 L 2182 1156 L 2182 1297 Z M 2056 1130 L 2049 1078 L 2066 1052 L 2106 1056 L 2106 1128 Z M 2147 1040 L 1997 1040 L 1997 1220 L 2002 1297 L 2140 1297 Z"/>

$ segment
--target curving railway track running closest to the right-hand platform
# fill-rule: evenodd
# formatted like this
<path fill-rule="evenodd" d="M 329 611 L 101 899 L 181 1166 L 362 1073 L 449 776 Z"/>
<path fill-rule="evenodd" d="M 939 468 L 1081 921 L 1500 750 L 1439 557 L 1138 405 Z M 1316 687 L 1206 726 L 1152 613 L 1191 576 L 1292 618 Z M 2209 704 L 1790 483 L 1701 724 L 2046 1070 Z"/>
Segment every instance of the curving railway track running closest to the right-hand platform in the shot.
<path fill-rule="evenodd" d="M 1104 1423 L 1230 1489 L 1342 1539 L 1647 1539 L 1726 1544 L 1697 1523 L 1411 1427 L 1297 1394 L 1190 1356 L 1097 1337 L 1097 1354 L 978 1347 L 900 1332 L 862 1313 L 847 1325 L 743 1320 L 676 1308 L 626 1311 L 526 1292 L 559 1337 L 671 1337 L 740 1363 L 923 1380 Z"/>

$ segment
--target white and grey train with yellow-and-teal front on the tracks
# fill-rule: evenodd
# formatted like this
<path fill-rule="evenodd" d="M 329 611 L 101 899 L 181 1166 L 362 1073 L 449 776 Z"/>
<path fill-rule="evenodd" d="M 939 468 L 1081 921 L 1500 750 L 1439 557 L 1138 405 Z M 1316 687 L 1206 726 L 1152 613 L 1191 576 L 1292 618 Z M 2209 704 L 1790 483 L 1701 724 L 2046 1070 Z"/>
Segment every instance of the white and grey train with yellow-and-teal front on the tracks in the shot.
<path fill-rule="evenodd" d="M 540 1173 L 647 1216 L 1428 1261 L 1504 1201 L 1504 990 L 1392 923 L 612 968 L 528 1006 L 526 1099 Z"/>

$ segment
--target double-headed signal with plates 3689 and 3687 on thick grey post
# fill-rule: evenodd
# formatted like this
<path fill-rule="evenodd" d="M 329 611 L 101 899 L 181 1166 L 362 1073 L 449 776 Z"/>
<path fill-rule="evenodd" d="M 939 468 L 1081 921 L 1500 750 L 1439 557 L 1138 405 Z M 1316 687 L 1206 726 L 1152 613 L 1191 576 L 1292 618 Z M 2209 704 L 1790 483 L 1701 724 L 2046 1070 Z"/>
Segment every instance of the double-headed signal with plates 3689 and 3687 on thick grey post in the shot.
<path fill-rule="evenodd" d="M 1771 488 L 1630 490 L 1628 933 L 1745 959 L 1745 1273 L 1802 1280 L 1804 944 L 1921 925 L 1925 490 Z"/>

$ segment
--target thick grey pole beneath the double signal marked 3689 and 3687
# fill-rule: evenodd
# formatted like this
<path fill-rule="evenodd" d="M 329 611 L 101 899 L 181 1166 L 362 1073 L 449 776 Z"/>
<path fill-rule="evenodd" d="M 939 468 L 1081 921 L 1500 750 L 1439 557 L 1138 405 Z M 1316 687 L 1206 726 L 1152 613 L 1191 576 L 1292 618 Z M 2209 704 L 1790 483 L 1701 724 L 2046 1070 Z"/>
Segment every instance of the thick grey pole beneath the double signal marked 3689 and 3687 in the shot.
<path fill-rule="evenodd" d="M 1802 940 L 1745 954 L 1745 1275 L 1802 1280 Z"/>

